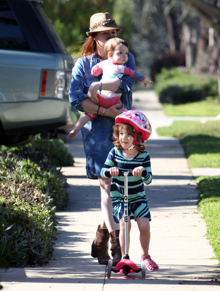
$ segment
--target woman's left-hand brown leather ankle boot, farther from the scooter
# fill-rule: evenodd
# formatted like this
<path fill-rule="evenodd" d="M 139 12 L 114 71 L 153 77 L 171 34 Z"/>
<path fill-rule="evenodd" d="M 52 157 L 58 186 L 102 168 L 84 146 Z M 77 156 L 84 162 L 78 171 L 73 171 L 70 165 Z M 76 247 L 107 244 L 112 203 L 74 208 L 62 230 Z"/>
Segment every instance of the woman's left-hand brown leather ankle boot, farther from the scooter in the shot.
<path fill-rule="evenodd" d="M 109 256 L 109 231 L 106 228 L 100 228 L 96 231 L 96 237 L 92 242 L 91 256 L 98 258 L 98 262 L 101 265 L 108 265 L 110 260 Z"/>

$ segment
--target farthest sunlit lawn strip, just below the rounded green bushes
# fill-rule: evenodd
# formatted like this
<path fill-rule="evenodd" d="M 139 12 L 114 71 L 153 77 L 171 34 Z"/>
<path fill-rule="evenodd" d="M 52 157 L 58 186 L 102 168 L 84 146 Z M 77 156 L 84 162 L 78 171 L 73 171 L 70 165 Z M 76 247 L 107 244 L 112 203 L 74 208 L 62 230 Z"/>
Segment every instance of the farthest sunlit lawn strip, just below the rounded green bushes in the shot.
<path fill-rule="evenodd" d="M 207 97 L 203 101 L 181 105 L 164 104 L 167 116 L 217 116 L 220 114 L 219 97 Z"/>

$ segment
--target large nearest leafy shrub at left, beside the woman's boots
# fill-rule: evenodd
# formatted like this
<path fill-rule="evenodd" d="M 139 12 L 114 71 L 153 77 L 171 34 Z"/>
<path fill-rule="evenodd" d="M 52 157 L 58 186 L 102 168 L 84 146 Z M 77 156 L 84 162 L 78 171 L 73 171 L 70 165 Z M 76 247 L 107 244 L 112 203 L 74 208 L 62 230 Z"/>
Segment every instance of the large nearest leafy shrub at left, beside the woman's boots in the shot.
<path fill-rule="evenodd" d="M 55 207 L 35 179 L 39 169 L 29 160 L 0 157 L 0 174 L 7 173 L 0 175 L 0 251 L 10 266 L 44 264 L 53 251 Z"/>

